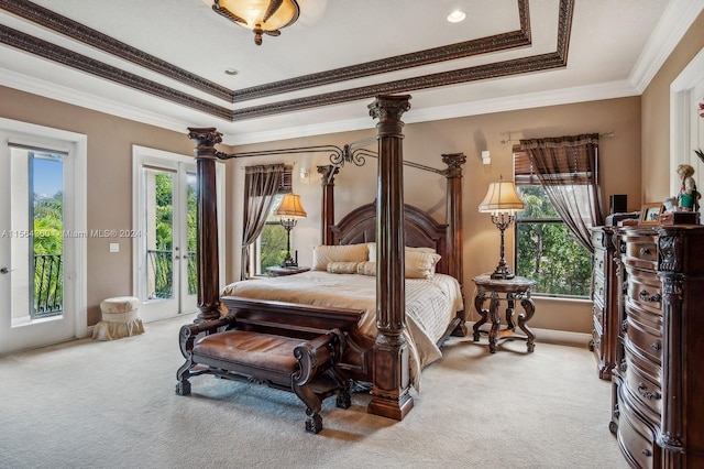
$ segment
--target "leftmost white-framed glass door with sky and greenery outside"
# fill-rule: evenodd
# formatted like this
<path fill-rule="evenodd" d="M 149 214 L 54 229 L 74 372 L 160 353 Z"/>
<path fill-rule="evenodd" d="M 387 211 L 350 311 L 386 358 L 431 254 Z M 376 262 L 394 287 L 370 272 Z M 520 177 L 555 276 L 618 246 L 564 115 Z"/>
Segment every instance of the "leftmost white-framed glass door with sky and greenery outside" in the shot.
<path fill-rule="evenodd" d="M 84 337 L 85 138 L 0 120 L 0 353 Z"/>

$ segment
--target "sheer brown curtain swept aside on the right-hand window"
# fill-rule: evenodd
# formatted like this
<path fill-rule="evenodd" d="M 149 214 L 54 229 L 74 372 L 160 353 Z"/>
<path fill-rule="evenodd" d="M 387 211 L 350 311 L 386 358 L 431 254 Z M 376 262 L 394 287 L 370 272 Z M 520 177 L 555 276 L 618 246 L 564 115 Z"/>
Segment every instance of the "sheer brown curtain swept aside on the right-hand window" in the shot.
<path fill-rule="evenodd" d="M 580 244 L 594 253 L 590 228 L 604 221 L 598 134 L 521 140 L 520 146 L 527 161 L 516 164 L 517 182 L 537 176 Z"/>

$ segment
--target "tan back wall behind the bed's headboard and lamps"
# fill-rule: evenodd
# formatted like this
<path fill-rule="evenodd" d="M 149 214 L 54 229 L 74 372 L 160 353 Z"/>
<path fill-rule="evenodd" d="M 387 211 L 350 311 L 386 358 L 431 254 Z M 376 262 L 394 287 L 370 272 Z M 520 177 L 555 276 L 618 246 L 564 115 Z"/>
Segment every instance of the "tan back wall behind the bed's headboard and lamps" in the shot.
<path fill-rule="evenodd" d="M 408 118 L 411 110 L 405 114 Z M 371 119 L 371 118 L 370 118 Z M 496 266 L 499 251 L 499 236 L 486 214 L 477 212 L 480 201 L 491 182 L 501 175 L 513 176 L 512 143 L 501 143 L 510 139 L 561 137 L 586 132 L 614 132 L 613 138 L 603 138 L 600 144 L 602 188 L 605 210 L 608 195 L 626 194 L 628 209 L 640 208 L 640 98 L 623 98 L 576 105 L 554 106 L 449 119 L 443 121 L 408 124 L 404 129 L 404 159 L 436 168 L 443 168 L 441 154 L 463 152 L 468 156 L 463 182 L 463 234 L 464 234 L 464 293 L 468 309 L 473 293 L 472 277 L 491 272 Z M 375 130 L 350 132 L 346 134 L 320 135 L 314 139 L 290 140 L 271 144 L 248 145 L 237 151 L 254 149 L 285 149 L 310 144 L 343 145 L 375 134 Z M 372 146 L 373 149 L 374 146 Z M 488 150 L 492 164 L 483 165 L 481 151 Z M 268 161 L 293 162 L 293 157 L 268 159 Z M 262 160 L 257 160 L 262 161 Z M 327 155 L 304 155 L 304 163 L 311 167 L 328 164 Z M 229 176 L 237 179 L 235 172 L 246 165 L 242 160 L 230 166 Z M 320 242 L 320 185 L 318 178 L 310 182 L 298 179 L 298 167 L 294 170 L 294 190 L 299 193 L 308 218 L 299 221 L 294 231 L 294 244 L 298 249 L 299 264 L 309 264 L 311 247 Z M 231 179 L 232 181 L 232 179 Z M 406 167 L 404 171 L 407 204 L 429 210 L 444 221 L 444 177 Z M 237 187 L 233 184 L 232 187 Z M 336 214 L 346 214 L 360 204 L 374 200 L 376 195 L 376 163 L 367 160 L 363 167 L 346 165 L 336 177 Z M 237 189 L 235 189 L 237 190 Z M 232 194 L 228 196 L 231 200 Z M 233 207 L 237 210 L 237 207 Z M 338 217 L 339 218 L 339 217 Z M 241 229 L 233 230 L 241 233 Z M 229 240 L 229 243 L 235 240 Z M 507 259 L 513 259 L 513 230 L 507 236 Z M 513 261 L 509 261 L 513 264 Z M 233 279 L 235 272 L 228 271 Z M 561 301 L 557 298 L 537 299 L 537 313 L 532 326 L 578 332 L 590 332 L 591 302 Z"/>

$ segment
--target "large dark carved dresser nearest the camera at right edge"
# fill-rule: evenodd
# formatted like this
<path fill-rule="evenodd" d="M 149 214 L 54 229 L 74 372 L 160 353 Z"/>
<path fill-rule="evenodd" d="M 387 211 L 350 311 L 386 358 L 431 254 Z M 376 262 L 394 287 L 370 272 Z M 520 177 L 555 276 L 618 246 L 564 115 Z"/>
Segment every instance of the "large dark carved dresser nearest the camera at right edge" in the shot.
<path fill-rule="evenodd" d="M 612 432 L 636 468 L 704 467 L 704 227 L 617 229 Z"/>

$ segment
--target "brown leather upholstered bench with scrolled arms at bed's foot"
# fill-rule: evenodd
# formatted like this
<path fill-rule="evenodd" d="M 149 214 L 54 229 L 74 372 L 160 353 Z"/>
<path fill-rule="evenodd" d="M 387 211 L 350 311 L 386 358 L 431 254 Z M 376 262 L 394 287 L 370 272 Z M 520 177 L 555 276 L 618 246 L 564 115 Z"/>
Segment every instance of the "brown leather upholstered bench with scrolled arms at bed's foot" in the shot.
<path fill-rule="evenodd" d="M 310 340 L 252 330 L 217 331 L 227 324 L 228 319 L 219 319 L 182 327 L 186 363 L 177 372 L 176 394 L 190 394 L 188 379 L 204 373 L 293 391 L 306 404 L 306 430 L 316 434 L 322 429 L 322 400 L 337 395 L 338 407 L 350 407 L 349 380 L 334 368 L 344 347 L 339 330 Z"/>

